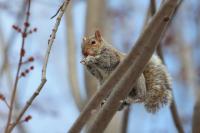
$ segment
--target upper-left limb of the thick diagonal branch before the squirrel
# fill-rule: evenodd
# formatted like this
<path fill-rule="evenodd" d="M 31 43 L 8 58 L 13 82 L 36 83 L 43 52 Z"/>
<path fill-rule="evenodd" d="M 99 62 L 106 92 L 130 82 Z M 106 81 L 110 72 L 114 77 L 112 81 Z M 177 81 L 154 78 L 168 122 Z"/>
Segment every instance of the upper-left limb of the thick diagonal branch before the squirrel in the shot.
<path fill-rule="evenodd" d="M 85 108 L 81 112 L 78 119 L 75 121 L 73 126 L 70 128 L 69 133 L 80 132 L 80 130 L 83 128 L 84 124 L 91 117 L 92 112 L 94 112 L 94 110 L 96 110 L 96 108 L 100 105 L 101 101 L 111 92 L 112 88 L 120 81 L 121 77 L 127 71 L 129 66 L 132 65 L 132 63 L 136 60 L 136 58 L 138 58 L 138 56 L 141 56 L 142 53 L 140 53 L 139 51 L 141 51 L 143 49 L 143 45 L 145 43 L 149 43 L 149 40 L 151 39 L 152 36 L 155 36 L 155 35 L 152 35 L 152 31 L 155 30 L 155 27 L 157 27 L 161 22 L 163 22 L 163 19 L 166 22 L 168 22 L 171 19 L 170 18 L 171 16 L 169 17 L 167 13 L 168 13 L 168 11 L 171 11 L 171 9 L 173 9 L 175 5 L 177 5 L 177 0 L 169 0 L 165 4 L 165 6 L 163 6 L 164 8 L 162 8 L 162 10 L 160 12 L 158 12 L 157 15 L 152 19 L 152 21 L 149 23 L 149 25 L 145 28 L 144 32 L 140 36 L 135 47 L 131 50 L 130 54 L 128 54 L 128 56 L 124 59 L 123 63 L 120 64 L 119 67 L 116 68 L 116 70 L 111 74 L 109 79 L 102 85 L 102 87 L 98 90 L 98 92 L 96 92 L 96 94 L 91 98 L 91 100 L 85 106 Z M 161 31 L 155 32 L 155 33 L 157 33 L 157 34 L 159 33 L 159 35 L 161 35 L 160 34 Z M 118 100 L 120 100 L 120 99 L 118 99 Z M 108 110 L 110 110 L 110 109 L 112 109 L 112 108 L 109 107 Z M 117 108 L 115 108 L 115 109 L 117 110 Z M 111 117 L 112 117 L 112 115 L 111 115 Z M 98 131 L 98 130 L 96 130 L 96 131 Z"/>

